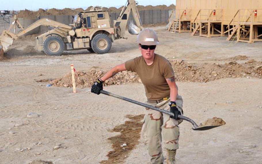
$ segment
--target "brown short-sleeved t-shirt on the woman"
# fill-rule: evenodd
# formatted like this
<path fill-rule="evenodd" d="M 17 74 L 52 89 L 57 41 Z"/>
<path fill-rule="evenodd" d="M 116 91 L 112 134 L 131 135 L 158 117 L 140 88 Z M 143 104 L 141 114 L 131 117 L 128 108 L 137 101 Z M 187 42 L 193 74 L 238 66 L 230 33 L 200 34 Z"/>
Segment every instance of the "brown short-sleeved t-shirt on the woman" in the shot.
<path fill-rule="evenodd" d="M 148 66 L 143 56 L 125 62 L 126 70 L 136 72 L 145 86 L 146 96 L 150 100 L 159 100 L 170 95 L 166 79 L 174 76 L 170 62 L 155 54 L 153 64 Z"/>

